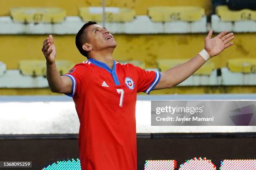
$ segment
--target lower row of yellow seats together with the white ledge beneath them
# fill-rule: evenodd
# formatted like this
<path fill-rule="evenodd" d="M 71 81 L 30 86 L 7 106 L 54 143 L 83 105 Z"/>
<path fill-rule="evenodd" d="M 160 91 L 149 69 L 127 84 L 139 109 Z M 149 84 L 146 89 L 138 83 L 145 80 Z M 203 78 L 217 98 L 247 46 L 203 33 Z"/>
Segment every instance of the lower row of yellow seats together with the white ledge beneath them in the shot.
<path fill-rule="evenodd" d="M 145 70 L 165 71 L 187 60 L 189 59 L 161 59 L 156 61 L 157 66 L 155 68 L 145 68 L 145 63 L 139 60 L 122 60 L 119 62 L 122 64 L 129 62 Z M 60 75 L 63 75 L 74 66 L 74 63 L 67 60 L 57 60 L 56 65 Z M 12 78 L 10 79 L 10 77 Z M 216 68 L 213 62 L 208 61 L 179 85 L 256 85 L 256 59 L 230 59 L 227 62 L 227 67 L 222 68 Z M 48 87 L 45 60 L 21 60 L 18 70 L 6 70 L 6 65 L 0 62 L 1 87 Z"/>

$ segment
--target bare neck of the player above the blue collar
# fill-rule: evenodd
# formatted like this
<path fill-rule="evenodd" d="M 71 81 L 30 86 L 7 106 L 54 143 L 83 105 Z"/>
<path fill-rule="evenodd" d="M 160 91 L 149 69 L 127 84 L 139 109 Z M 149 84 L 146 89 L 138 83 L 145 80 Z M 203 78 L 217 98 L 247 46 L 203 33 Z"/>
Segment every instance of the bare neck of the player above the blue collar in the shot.
<path fill-rule="evenodd" d="M 104 62 L 111 70 L 113 68 L 113 50 L 106 49 L 97 52 L 91 51 L 90 58 Z"/>

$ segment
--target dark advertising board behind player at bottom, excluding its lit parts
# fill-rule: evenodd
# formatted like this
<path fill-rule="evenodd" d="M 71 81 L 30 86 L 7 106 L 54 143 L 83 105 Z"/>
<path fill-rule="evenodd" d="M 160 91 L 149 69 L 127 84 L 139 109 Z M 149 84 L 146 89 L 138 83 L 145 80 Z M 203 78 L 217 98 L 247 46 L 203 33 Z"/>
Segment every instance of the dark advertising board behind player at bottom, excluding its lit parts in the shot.
<path fill-rule="evenodd" d="M 145 160 L 186 160 L 206 157 L 220 167 L 223 159 L 256 159 L 255 133 L 138 134 L 138 170 Z M 0 161 L 32 161 L 39 170 L 56 161 L 79 158 L 77 135 L 1 135 Z M 6 168 L 4 168 L 6 169 Z M 9 168 L 10 169 L 10 168 Z"/>

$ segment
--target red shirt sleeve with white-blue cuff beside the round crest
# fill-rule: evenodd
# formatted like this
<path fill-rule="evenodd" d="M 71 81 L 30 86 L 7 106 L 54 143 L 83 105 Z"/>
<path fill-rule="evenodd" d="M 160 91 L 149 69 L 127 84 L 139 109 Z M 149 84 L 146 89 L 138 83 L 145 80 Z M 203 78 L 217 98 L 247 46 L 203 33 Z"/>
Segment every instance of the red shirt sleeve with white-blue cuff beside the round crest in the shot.
<path fill-rule="evenodd" d="M 154 90 L 161 78 L 160 72 L 146 71 L 141 69 L 140 67 L 136 67 L 136 70 L 138 72 L 137 92 L 146 92 L 149 95 L 151 90 Z"/>

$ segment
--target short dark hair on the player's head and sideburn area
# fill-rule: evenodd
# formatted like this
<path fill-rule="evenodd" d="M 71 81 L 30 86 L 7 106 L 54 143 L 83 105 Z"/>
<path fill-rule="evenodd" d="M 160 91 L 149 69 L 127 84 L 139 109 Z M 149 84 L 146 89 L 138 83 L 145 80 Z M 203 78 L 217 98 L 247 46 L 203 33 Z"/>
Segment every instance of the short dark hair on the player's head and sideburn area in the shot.
<path fill-rule="evenodd" d="M 97 24 L 94 21 L 88 21 L 87 23 L 85 23 L 82 28 L 77 32 L 76 35 L 76 46 L 77 49 L 79 50 L 79 52 L 84 55 L 85 57 L 88 57 L 88 52 L 85 51 L 83 49 L 83 44 L 84 44 L 84 35 L 85 35 L 85 39 L 87 40 L 87 35 L 86 32 L 84 32 L 85 28 L 87 28 L 89 25 L 93 25 L 93 24 Z"/>

